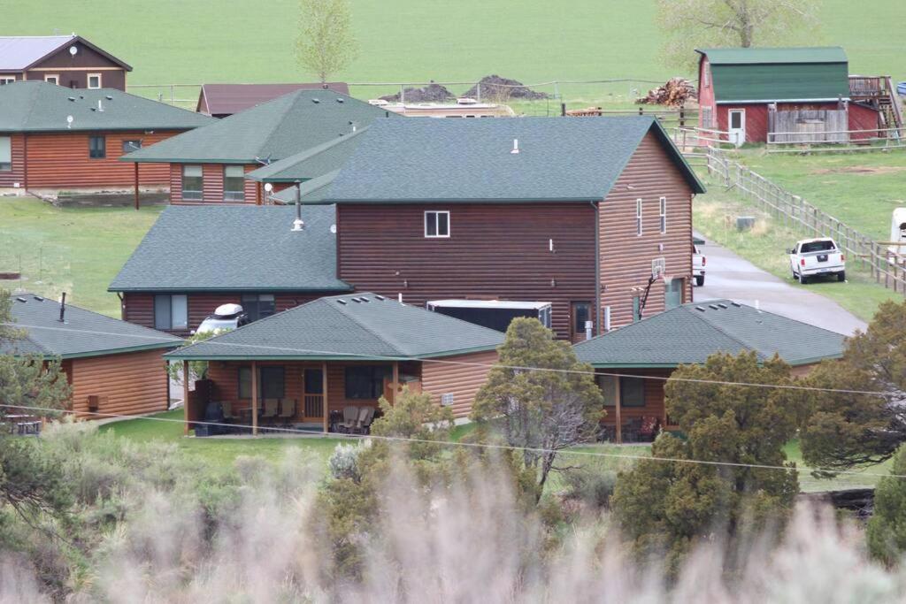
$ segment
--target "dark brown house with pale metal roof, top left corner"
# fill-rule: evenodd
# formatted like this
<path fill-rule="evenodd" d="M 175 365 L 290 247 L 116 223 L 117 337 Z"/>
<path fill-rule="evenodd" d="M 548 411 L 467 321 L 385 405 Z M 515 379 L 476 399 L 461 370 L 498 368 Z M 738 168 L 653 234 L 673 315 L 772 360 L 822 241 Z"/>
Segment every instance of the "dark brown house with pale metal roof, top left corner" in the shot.
<path fill-rule="evenodd" d="M 82 36 L 0 36 L 0 85 L 46 81 L 64 88 L 126 91 L 132 68 Z"/>

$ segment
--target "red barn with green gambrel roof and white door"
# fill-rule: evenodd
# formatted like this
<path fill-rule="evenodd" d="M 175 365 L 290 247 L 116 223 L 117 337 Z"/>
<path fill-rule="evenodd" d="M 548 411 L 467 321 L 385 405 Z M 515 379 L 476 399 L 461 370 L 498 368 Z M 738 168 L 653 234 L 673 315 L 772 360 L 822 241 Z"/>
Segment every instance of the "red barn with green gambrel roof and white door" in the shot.
<path fill-rule="evenodd" d="M 770 140 L 843 142 L 843 130 L 878 128 L 877 110 L 851 102 L 848 62 L 839 46 L 697 52 L 699 128 L 728 132 L 739 145 L 784 132 L 794 134 Z"/>

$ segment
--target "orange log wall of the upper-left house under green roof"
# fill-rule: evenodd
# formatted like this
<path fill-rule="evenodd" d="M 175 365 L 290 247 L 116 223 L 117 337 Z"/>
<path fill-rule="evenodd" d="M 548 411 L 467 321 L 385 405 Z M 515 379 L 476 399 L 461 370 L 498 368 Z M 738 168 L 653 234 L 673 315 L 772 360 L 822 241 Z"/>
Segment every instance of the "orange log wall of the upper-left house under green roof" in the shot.
<path fill-rule="evenodd" d="M 135 166 L 120 161 L 123 141 L 140 139 L 142 146 L 147 147 L 178 133 L 175 130 L 153 134 L 141 130 L 29 133 L 24 141 L 28 188 L 132 187 Z M 106 158 L 89 157 L 89 138 L 92 136 L 105 137 Z M 141 164 L 139 184 L 166 187 L 167 164 Z"/>

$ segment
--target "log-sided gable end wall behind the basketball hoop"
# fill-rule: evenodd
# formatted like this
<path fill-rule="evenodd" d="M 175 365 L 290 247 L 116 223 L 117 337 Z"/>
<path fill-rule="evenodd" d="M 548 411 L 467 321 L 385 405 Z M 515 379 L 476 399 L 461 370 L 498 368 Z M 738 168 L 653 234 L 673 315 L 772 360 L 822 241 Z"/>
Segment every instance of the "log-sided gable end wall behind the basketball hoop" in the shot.
<path fill-rule="evenodd" d="M 660 197 L 667 198 L 666 234 L 660 233 Z M 636 200 L 640 198 L 642 235 L 638 236 Z M 683 299 L 692 299 L 692 189 L 653 134 L 647 134 L 633 153 L 604 199 L 599 218 L 601 300 L 602 306 L 611 307 L 612 327 L 632 322 L 632 298 L 647 286 L 655 258 L 664 258 L 668 277 L 686 279 Z M 664 281 L 659 280 L 651 285 L 643 316 L 664 308 Z"/>

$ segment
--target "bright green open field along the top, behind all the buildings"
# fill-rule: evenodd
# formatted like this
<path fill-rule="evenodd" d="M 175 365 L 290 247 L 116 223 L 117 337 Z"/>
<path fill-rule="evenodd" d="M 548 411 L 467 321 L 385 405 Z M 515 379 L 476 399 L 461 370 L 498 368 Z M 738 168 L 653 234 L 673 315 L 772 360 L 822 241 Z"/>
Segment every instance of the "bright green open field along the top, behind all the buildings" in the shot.
<path fill-rule="evenodd" d="M 473 81 L 488 73 L 525 82 L 662 79 L 655 0 L 565 5 L 512 0 L 352 0 L 359 58 L 348 81 Z M 134 84 L 305 79 L 294 63 L 295 0 L 93 0 L 5 3 L 0 34 L 76 32 L 130 62 Z M 871 10 L 824 0 L 813 43 L 842 44 L 853 72 L 906 79 L 901 0 Z M 692 53 L 692 49 L 689 49 Z M 628 93 L 629 85 L 610 91 Z M 588 89 L 562 90 L 575 94 Z M 371 96 L 373 91 L 355 91 Z"/>

